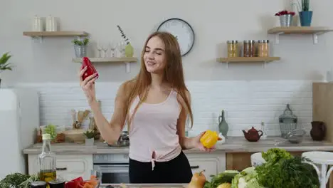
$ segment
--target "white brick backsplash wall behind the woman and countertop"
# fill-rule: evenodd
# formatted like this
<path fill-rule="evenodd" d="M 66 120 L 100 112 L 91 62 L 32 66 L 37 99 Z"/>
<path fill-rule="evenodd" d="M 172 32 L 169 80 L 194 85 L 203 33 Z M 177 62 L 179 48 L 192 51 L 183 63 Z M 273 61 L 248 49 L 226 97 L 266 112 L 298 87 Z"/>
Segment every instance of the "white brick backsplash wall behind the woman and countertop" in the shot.
<path fill-rule="evenodd" d="M 242 129 L 260 128 L 264 121 L 268 135 L 279 135 L 278 116 L 290 103 L 300 125 L 310 130 L 312 121 L 312 82 L 310 81 L 191 81 L 194 127 L 189 135 L 216 129 L 218 115 L 226 110 L 228 135 L 243 135 Z M 97 98 L 107 120 L 113 113 L 115 93 L 120 83 L 97 83 Z M 20 87 L 37 88 L 41 94 L 41 125 L 71 125 L 70 109 L 88 108 L 78 83 L 33 83 Z M 88 120 L 85 122 L 88 125 Z"/>

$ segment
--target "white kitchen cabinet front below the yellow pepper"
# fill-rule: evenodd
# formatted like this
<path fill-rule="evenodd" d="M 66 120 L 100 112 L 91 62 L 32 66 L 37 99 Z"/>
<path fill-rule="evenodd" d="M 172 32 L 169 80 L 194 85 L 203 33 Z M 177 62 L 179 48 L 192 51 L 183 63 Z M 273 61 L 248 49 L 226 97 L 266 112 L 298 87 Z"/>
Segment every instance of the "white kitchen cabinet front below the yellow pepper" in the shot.
<path fill-rule="evenodd" d="M 226 170 L 226 153 L 214 152 L 214 153 L 186 153 L 186 157 L 189 159 L 192 173 L 203 172 L 206 179 L 211 180 L 210 175 L 216 175 Z"/>

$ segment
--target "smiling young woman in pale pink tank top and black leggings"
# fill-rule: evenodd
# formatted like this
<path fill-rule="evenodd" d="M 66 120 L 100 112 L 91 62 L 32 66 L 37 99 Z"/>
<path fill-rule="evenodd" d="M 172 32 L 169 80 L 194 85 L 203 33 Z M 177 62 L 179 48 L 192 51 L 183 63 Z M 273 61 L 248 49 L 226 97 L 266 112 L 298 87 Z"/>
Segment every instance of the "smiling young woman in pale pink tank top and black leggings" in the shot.
<path fill-rule="evenodd" d="M 185 137 L 191 98 L 184 83 L 179 43 L 170 33 L 155 32 L 147 38 L 136 78 L 120 85 L 115 110 L 107 122 L 95 97 L 95 75 L 80 86 L 103 139 L 117 141 L 127 122 L 129 130 L 129 181 L 131 183 L 189 183 L 192 172 L 182 150 L 203 147 L 200 137 Z"/>

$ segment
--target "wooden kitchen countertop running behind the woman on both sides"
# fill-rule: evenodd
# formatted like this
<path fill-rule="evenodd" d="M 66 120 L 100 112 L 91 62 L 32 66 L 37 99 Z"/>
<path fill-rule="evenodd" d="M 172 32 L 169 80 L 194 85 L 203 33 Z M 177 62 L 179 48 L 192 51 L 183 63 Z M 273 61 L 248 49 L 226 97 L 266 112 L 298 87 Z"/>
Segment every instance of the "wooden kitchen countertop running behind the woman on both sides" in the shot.
<path fill-rule="evenodd" d="M 267 137 L 266 140 L 258 142 L 248 142 L 244 137 L 228 137 L 226 143 L 216 144 L 216 150 L 213 152 L 261 152 L 273 147 L 283 148 L 289 152 L 297 151 L 333 151 L 333 143 L 326 141 L 313 141 L 311 137 L 306 137 L 300 144 L 282 143 L 275 145 L 277 140 L 284 140 L 281 137 Z M 25 154 L 41 153 L 42 144 L 38 143 L 23 150 Z M 75 154 L 126 154 L 129 147 L 109 147 L 103 142 L 95 142 L 94 146 L 85 146 L 85 144 L 77 143 L 55 143 L 52 144 L 53 152 L 59 154 L 75 155 Z M 199 150 L 185 150 L 185 153 L 202 153 Z"/>

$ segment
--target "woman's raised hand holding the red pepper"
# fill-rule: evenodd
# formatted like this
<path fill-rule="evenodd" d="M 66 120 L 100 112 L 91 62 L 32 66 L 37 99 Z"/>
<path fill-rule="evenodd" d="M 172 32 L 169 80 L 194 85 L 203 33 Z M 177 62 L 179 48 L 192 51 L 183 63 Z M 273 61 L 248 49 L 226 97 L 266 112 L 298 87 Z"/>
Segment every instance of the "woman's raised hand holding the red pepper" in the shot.
<path fill-rule="evenodd" d="M 83 80 L 82 76 L 87 71 L 87 67 L 81 68 L 79 77 L 80 77 L 80 86 L 85 93 L 85 96 L 88 99 L 88 103 L 91 103 L 93 100 L 96 100 L 96 93 L 95 93 L 95 80 L 97 79 L 96 73 L 93 75 L 88 76 Z"/>

